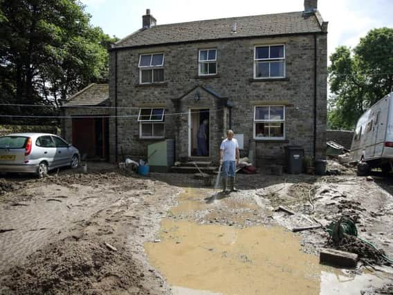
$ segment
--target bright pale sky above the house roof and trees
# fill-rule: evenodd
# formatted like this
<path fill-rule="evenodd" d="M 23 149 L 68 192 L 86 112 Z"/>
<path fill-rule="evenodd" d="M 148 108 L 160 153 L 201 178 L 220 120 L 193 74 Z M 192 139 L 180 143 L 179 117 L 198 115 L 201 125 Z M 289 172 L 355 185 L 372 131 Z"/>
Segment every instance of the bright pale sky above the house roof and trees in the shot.
<path fill-rule="evenodd" d="M 91 23 L 122 38 L 142 27 L 149 8 L 157 24 L 304 10 L 304 0 L 81 0 Z M 372 28 L 393 28 L 393 0 L 319 0 L 329 21 L 328 54 L 337 46 L 356 46 Z"/>

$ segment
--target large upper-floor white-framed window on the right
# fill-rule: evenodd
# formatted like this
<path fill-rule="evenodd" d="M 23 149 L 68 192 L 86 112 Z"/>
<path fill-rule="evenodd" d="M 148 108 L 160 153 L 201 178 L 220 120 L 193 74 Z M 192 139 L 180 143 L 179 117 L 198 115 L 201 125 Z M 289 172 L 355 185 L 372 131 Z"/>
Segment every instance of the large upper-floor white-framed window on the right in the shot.
<path fill-rule="evenodd" d="M 254 54 L 254 78 L 285 77 L 285 46 L 257 46 Z"/>

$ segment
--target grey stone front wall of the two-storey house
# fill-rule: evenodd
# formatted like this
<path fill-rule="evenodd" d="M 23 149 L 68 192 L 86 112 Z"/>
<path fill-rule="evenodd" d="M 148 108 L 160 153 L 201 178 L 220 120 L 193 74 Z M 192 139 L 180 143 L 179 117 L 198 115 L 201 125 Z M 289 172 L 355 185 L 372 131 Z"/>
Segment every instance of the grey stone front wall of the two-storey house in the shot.
<path fill-rule="evenodd" d="M 259 45 L 285 44 L 286 79 L 255 81 L 253 79 L 254 48 Z M 218 75 L 197 77 L 198 50 L 217 48 Z M 145 53 L 165 53 L 165 83 L 139 85 L 138 57 Z M 146 158 L 147 145 L 151 140 L 139 138 L 136 120 L 139 107 L 164 107 L 165 137 L 176 140 L 176 158 L 188 149 L 188 115 L 176 113 L 172 99 L 188 93 L 195 86 L 210 86 L 233 103 L 232 129 L 244 134 L 244 153 L 253 140 L 253 114 L 255 106 L 286 106 L 286 139 L 282 141 L 255 142 L 257 164 L 268 161 L 282 162 L 284 146 L 300 145 L 306 155 L 313 156 L 313 104 L 314 104 L 314 35 L 292 37 L 264 37 L 255 39 L 234 39 L 193 44 L 177 44 L 165 47 L 134 48 L 111 52 L 110 99 L 115 106 L 115 59 L 117 67 L 117 105 L 136 109 L 118 109 L 118 115 L 135 117 L 118 118 L 118 154 L 120 146 L 131 158 Z M 317 35 L 317 139 L 316 158 L 325 157 L 326 104 L 327 104 L 327 35 Z M 212 100 L 214 101 L 214 99 Z M 199 102 L 200 106 L 202 102 Z M 198 107 L 183 104 L 181 113 L 188 108 Z M 211 104 L 213 108 L 214 105 Z M 112 111 L 113 112 L 113 111 Z M 228 128 L 228 110 L 221 108 L 217 117 L 217 138 L 212 138 L 211 149 L 218 149 L 225 129 Z M 111 161 L 114 161 L 116 142 L 114 120 L 110 122 Z M 111 124 L 113 123 L 113 124 Z M 220 130 L 221 129 L 221 130 Z M 180 145 L 180 146 L 179 146 Z M 211 153 L 211 160 L 217 160 L 218 151 Z"/>

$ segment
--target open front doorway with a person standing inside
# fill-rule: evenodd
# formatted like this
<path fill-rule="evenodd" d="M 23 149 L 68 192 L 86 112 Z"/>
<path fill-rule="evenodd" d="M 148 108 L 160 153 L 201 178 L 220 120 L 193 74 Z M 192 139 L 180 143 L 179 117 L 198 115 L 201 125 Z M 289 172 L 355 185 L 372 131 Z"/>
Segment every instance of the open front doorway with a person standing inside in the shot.
<path fill-rule="evenodd" d="M 210 157 L 210 110 L 190 110 L 189 153 L 192 157 Z"/>

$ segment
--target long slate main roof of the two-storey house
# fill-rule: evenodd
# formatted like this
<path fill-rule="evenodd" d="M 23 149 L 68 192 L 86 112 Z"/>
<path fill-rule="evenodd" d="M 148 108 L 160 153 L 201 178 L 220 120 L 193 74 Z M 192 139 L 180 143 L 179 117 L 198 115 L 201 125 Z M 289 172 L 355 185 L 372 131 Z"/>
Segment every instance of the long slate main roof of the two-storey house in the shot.
<path fill-rule="evenodd" d="M 233 23 L 237 24 L 236 33 L 232 33 Z M 322 17 L 318 11 L 190 21 L 140 29 L 116 42 L 114 48 L 321 32 L 321 26 Z"/>

